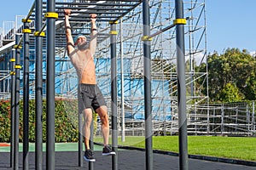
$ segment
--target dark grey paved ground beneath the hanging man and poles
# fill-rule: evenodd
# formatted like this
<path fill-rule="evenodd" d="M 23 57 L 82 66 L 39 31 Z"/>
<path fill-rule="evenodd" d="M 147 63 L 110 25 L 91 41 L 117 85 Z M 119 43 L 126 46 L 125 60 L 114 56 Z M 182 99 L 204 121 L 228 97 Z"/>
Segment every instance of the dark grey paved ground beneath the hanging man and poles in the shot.
<path fill-rule="evenodd" d="M 101 151 L 95 152 L 96 162 L 93 163 L 95 170 L 112 169 L 112 157 L 102 156 Z M 22 169 L 22 153 L 20 152 L 20 169 Z M 154 153 L 154 170 L 178 170 L 179 157 L 168 156 Z M 9 153 L 0 152 L 0 169 L 9 170 Z M 44 152 L 44 169 L 46 169 Z M 119 150 L 118 153 L 119 170 L 144 170 L 145 152 L 142 150 Z M 35 154 L 29 153 L 29 169 L 35 169 Z M 84 167 L 79 167 L 77 151 L 56 151 L 55 152 L 55 169 L 56 170 L 80 170 L 89 169 L 89 163 L 84 161 Z M 198 159 L 189 159 L 189 170 L 255 170 L 256 167 L 243 166 L 230 163 L 222 163 L 218 161 L 202 161 Z"/>

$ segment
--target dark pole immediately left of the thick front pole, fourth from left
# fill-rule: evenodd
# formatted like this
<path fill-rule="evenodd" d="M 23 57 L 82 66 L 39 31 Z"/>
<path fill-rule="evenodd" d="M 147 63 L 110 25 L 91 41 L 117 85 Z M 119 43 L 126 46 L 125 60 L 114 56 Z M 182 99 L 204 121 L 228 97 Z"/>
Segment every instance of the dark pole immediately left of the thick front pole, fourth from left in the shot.
<path fill-rule="evenodd" d="M 43 0 L 36 0 L 36 31 L 42 27 Z M 38 32 L 39 33 L 39 32 Z M 36 37 L 36 169 L 43 169 L 43 37 Z"/>

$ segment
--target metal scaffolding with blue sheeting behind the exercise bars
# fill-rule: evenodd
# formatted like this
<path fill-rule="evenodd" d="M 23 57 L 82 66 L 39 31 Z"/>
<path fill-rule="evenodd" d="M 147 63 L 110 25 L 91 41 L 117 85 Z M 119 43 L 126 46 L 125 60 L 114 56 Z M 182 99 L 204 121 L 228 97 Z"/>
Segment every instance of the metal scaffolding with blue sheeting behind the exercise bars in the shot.
<path fill-rule="evenodd" d="M 110 26 L 109 22 L 117 21 L 117 59 L 118 59 L 118 101 L 119 109 L 121 103 L 125 105 L 126 118 L 134 118 L 135 114 L 143 114 L 143 23 L 142 23 L 142 1 L 56 1 L 55 10 L 58 13 L 56 19 L 55 32 L 55 94 L 61 98 L 68 98 L 77 95 L 76 73 L 70 60 L 67 57 L 66 37 L 64 29 L 64 8 L 72 8 L 71 25 L 73 35 L 84 33 L 85 36 L 90 34 L 89 14 L 94 12 L 98 14 L 98 47 L 96 54 L 96 69 L 99 86 L 103 94 L 107 96 L 108 104 L 111 103 L 110 88 Z M 176 42 L 175 42 L 175 20 L 174 0 L 168 1 L 150 1 L 150 31 L 152 34 L 151 49 L 151 74 L 153 83 L 153 110 L 154 117 L 167 117 L 167 121 L 175 119 L 177 115 L 177 65 L 176 65 Z M 185 26 L 185 57 L 186 57 L 186 88 L 187 88 L 187 104 L 201 104 L 207 101 L 207 96 L 200 93 L 202 85 L 195 87 L 195 81 L 205 78 L 207 83 L 207 71 L 196 72 L 195 65 L 205 62 L 207 58 L 206 45 L 206 18 L 205 3 L 201 1 L 183 1 L 184 13 L 187 20 Z M 46 2 L 43 1 L 43 14 L 46 13 Z M 35 3 L 32 5 L 31 14 L 28 19 L 32 20 L 29 28 L 32 33 L 35 32 Z M 26 17 L 25 17 L 26 18 Z M 20 19 L 21 20 L 21 19 Z M 9 22 L 8 22 L 9 23 Z M 5 24 L 7 25 L 7 24 Z M 1 98 L 8 99 L 10 97 L 9 84 L 9 59 L 11 58 L 11 48 L 15 45 L 15 33 L 22 33 L 23 26 L 15 30 L 17 25 L 12 24 L 14 28 L 10 31 L 3 32 L 2 44 L 0 48 L 1 54 Z M 20 26 L 20 25 L 18 25 Z M 15 30 L 15 31 L 14 31 Z M 46 30 L 46 18 L 42 20 L 42 28 L 39 32 Z M 35 68 L 35 37 L 30 34 L 30 59 L 29 59 L 29 94 L 35 97 L 36 81 Z M 22 40 L 20 45 L 22 46 Z M 43 94 L 46 95 L 46 38 L 43 37 Z M 22 52 L 23 49 L 21 49 Z M 123 65 L 120 65 L 120 63 Z M 21 65 L 23 59 L 21 54 Z M 22 90 L 22 70 L 21 71 L 21 91 Z M 122 83 L 123 82 L 123 83 Z M 124 88 L 124 91 L 122 89 Z M 124 102 L 121 102 L 122 96 Z M 164 111 L 165 108 L 165 111 Z M 119 111 L 121 112 L 121 111 Z M 137 116 L 136 116 L 137 117 Z M 168 120 L 169 119 L 169 120 Z M 158 131 L 159 129 L 155 129 Z M 130 133 L 127 131 L 127 133 Z M 132 133 L 132 132 L 131 132 Z M 173 132 L 175 133 L 175 131 Z"/>

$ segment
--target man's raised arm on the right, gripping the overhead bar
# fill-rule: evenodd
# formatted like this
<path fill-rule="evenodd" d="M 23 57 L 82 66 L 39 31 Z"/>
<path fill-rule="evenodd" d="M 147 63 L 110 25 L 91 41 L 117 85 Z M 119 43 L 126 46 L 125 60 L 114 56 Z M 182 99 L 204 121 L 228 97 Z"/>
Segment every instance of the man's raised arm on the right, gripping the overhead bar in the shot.
<path fill-rule="evenodd" d="M 96 53 L 96 45 L 97 45 L 97 27 L 96 27 L 96 14 L 90 14 L 90 52 L 92 55 Z"/>

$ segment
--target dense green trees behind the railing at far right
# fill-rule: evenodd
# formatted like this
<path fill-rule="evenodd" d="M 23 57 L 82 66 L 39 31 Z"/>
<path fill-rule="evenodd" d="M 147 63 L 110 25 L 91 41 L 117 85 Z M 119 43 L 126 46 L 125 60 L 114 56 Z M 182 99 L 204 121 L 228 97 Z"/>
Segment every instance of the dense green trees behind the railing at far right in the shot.
<path fill-rule="evenodd" d="M 228 48 L 224 54 L 208 55 L 207 65 L 199 65 L 196 70 L 205 71 L 207 67 L 208 93 L 212 101 L 219 99 L 224 88 L 230 88 L 228 83 L 238 88 L 241 96 L 244 96 L 242 99 L 256 99 L 256 60 L 247 50 L 241 52 L 238 48 Z M 205 80 L 198 83 L 202 81 Z M 203 93 L 207 93 L 206 83 Z"/>

